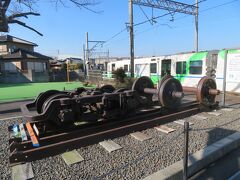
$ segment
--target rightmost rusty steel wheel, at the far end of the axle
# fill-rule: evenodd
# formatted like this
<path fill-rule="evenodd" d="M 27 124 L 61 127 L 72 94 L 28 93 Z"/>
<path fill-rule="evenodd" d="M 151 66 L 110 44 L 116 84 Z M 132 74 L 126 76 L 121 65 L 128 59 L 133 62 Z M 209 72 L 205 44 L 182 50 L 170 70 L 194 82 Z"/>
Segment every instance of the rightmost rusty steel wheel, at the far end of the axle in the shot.
<path fill-rule="evenodd" d="M 217 89 L 216 81 L 213 78 L 210 77 L 203 77 L 200 79 L 197 85 L 197 100 L 205 105 L 205 106 L 211 106 L 215 103 L 215 94 L 210 94 L 210 89 Z"/>

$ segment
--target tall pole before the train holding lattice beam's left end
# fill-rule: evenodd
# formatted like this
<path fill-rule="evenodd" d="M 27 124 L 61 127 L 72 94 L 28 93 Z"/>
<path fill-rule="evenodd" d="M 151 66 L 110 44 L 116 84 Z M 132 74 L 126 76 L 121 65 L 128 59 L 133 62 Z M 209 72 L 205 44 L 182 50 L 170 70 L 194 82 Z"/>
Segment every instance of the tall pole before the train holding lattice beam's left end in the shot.
<path fill-rule="evenodd" d="M 129 0 L 129 30 L 130 30 L 130 72 L 134 77 L 134 34 L 133 34 L 133 1 Z"/>

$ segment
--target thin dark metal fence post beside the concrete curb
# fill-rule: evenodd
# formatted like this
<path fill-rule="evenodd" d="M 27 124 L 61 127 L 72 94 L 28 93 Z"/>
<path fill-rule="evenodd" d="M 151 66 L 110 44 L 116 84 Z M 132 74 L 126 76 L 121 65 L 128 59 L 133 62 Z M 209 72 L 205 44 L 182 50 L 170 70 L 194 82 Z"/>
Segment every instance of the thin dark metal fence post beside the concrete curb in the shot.
<path fill-rule="evenodd" d="M 183 180 L 188 179 L 188 137 L 189 122 L 184 122 L 184 147 L 183 147 Z"/>

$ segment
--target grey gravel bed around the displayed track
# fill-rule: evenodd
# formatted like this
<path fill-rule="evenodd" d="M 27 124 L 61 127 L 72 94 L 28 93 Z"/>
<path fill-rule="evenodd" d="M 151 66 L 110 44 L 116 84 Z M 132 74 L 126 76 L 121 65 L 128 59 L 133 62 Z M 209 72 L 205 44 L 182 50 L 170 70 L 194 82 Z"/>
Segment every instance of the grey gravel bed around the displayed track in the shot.
<path fill-rule="evenodd" d="M 240 109 L 217 112 L 222 115 L 200 113 L 208 119 L 186 118 L 194 123 L 190 131 L 190 154 L 240 130 Z M 18 121 L 0 121 L 0 179 L 11 179 L 7 129 Z M 77 149 L 84 161 L 70 167 L 60 155 L 34 161 L 34 179 L 142 179 L 182 159 L 183 126 L 173 122 L 166 125 L 176 131 L 165 134 L 147 129 L 142 132 L 152 138 L 143 142 L 130 135 L 115 138 L 113 141 L 123 148 L 111 153 L 99 144 Z"/>

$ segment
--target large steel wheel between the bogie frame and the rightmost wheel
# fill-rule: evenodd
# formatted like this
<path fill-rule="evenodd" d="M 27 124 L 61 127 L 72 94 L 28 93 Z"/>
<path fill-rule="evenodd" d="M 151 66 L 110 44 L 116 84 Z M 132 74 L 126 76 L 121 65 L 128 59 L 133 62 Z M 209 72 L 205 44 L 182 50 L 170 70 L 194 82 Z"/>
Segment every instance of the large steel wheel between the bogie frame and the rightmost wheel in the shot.
<path fill-rule="evenodd" d="M 162 107 L 175 109 L 181 104 L 182 97 L 175 97 L 175 92 L 183 92 L 181 83 L 171 77 L 165 77 L 158 89 L 158 101 Z"/>

